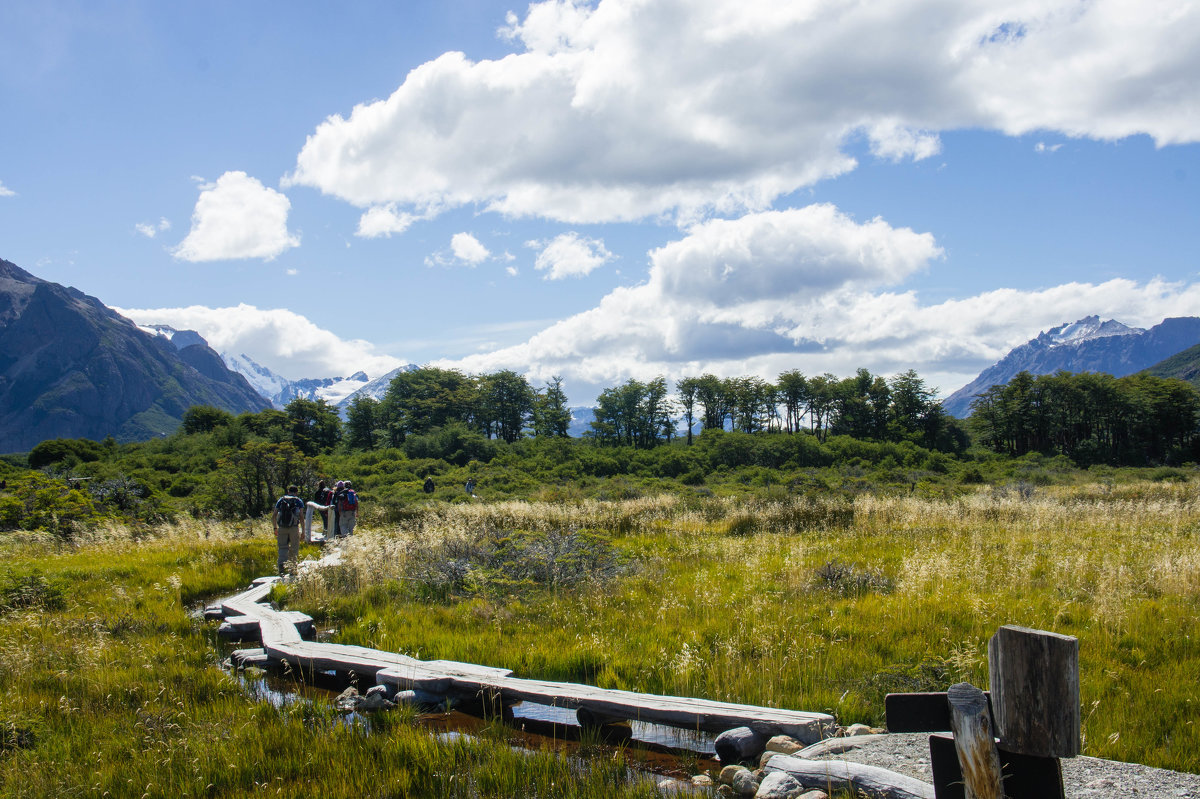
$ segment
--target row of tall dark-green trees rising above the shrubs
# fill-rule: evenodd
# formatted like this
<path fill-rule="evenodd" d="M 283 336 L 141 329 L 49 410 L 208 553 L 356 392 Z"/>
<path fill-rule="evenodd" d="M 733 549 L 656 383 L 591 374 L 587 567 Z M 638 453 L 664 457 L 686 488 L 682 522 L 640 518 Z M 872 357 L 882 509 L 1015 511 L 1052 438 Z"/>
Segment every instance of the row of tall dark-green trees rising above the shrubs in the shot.
<path fill-rule="evenodd" d="M 719 429 L 806 434 L 820 443 L 830 435 L 908 441 L 954 455 L 973 440 L 1003 455 L 1064 455 L 1085 465 L 1181 462 L 1200 447 L 1200 395 L 1181 380 L 1147 374 L 1021 373 L 980 395 L 966 425 L 942 410 L 936 390 L 912 370 L 890 379 L 868 370 L 847 378 L 792 370 L 774 383 L 702 374 L 674 389 L 662 377 L 605 389 L 584 438 L 650 449 L 676 438 L 690 445 L 698 432 Z M 491 457 L 496 441 L 565 438 L 566 403 L 558 377 L 534 388 L 511 371 L 466 376 L 426 367 L 398 374 L 382 400 L 356 397 L 344 422 L 323 400 L 296 398 L 283 410 L 244 414 L 241 433 L 229 434 L 234 445 L 257 437 L 288 441 L 307 456 L 395 447 L 410 457 L 451 451 L 466 463 Z M 226 411 L 192 408 L 184 431 L 232 421 Z M 46 455 L 35 450 L 35 458 Z"/>

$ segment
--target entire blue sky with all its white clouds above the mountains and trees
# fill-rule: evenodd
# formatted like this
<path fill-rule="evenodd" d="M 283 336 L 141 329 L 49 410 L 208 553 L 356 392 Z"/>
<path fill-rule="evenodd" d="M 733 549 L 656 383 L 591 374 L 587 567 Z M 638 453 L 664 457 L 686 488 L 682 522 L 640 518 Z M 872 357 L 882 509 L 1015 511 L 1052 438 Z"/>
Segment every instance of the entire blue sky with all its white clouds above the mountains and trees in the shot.
<path fill-rule="evenodd" d="M 0 258 L 292 378 L 913 368 L 1200 314 L 1200 4 L 0 4 Z"/>

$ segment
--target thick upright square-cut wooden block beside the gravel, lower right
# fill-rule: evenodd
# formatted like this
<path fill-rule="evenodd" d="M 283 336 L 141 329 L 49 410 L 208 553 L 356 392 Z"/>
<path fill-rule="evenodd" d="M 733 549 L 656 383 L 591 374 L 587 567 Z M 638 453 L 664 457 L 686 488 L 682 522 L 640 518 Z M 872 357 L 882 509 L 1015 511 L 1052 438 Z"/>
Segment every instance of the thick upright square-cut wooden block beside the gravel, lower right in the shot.
<path fill-rule="evenodd" d="M 1078 638 L 1006 625 L 988 642 L 988 666 L 996 733 L 1007 749 L 1079 755 Z"/>

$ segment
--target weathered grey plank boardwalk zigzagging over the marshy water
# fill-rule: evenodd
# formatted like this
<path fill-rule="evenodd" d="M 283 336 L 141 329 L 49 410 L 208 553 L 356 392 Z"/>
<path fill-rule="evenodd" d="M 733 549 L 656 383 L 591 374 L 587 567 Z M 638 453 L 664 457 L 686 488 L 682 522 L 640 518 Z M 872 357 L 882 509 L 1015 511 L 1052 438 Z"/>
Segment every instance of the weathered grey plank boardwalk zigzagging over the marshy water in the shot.
<path fill-rule="evenodd" d="M 258 621 L 263 650 L 270 661 L 287 663 L 305 673 L 336 671 L 360 680 L 374 680 L 392 691 L 420 690 L 445 697 L 470 697 L 493 708 L 535 702 L 576 710 L 583 725 L 644 721 L 683 729 L 720 733 L 751 727 L 766 734 L 782 733 L 804 744 L 824 737 L 834 723 L 824 713 L 760 708 L 712 699 L 599 689 L 578 683 L 551 683 L 512 677 L 506 668 L 475 666 L 449 660 L 416 660 L 398 653 L 305 641 L 312 619 L 302 613 L 280 612 L 263 600 L 275 577 L 262 577 L 236 596 L 221 603 L 226 624 L 247 631 Z"/>

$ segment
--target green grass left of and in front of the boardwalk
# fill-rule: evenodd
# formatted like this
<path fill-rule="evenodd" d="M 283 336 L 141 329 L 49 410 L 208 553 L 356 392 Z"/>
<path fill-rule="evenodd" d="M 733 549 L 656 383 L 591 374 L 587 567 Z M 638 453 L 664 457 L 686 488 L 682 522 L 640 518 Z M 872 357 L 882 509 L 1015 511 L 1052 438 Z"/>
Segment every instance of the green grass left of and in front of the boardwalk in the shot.
<path fill-rule="evenodd" d="M 498 734 L 442 743 L 410 713 L 366 734 L 329 707 L 250 701 L 188 611 L 269 573 L 265 534 L 0 547 L 5 797 L 656 795 L 620 753 L 583 770 Z"/>

